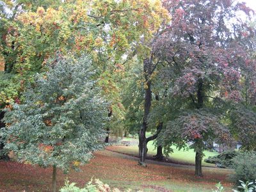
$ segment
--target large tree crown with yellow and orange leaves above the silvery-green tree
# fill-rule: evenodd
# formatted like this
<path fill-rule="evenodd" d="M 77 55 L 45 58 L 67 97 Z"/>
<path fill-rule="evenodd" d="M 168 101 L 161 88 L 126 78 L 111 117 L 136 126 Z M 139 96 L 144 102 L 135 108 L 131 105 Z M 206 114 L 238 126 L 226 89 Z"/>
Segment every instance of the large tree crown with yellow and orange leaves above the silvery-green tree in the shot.
<path fill-rule="evenodd" d="M 15 75 L 0 93 L 3 106 L 8 104 L 6 100 L 19 97 L 24 84 L 45 70 L 45 61 L 56 51 L 63 55 L 72 51 L 75 56 L 86 52 L 100 70 L 97 75 L 108 97 L 108 108 L 113 109 L 108 128 L 119 125 L 124 109 L 119 94 L 122 83 L 118 82 L 122 72 L 118 70 L 136 53 L 147 52 L 138 42 L 141 36 L 147 42 L 165 17 L 160 1 L 5 2 L 13 17 L 3 20 L 0 49 L 5 73 Z M 15 95 L 6 94 L 11 88 Z"/>

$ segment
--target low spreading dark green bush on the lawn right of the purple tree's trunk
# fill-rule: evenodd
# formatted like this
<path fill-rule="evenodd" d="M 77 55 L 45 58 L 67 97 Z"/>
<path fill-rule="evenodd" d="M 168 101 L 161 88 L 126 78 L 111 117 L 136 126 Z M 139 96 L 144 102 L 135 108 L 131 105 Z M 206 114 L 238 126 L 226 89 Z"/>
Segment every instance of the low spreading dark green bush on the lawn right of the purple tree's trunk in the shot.
<path fill-rule="evenodd" d="M 218 156 L 208 157 L 204 161 L 206 163 L 216 164 L 216 166 L 220 168 L 230 168 L 233 164 L 232 159 L 236 157 L 237 154 L 238 152 L 236 152 L 235 150 L 232 150 L 232 151 L 229 150 L 229 151 L 222 152 Z"/>

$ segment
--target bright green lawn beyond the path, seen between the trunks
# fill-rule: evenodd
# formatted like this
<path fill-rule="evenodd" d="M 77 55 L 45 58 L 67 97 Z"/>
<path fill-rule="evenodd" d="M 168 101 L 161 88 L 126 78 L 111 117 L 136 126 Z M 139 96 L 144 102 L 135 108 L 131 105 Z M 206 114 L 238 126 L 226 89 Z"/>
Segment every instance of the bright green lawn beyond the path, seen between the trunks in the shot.
<path fill-rule="evenodd" d="M 138 141 L 138 139 L 135 138 L 124 138 L 122 141 Z M 148 155 L 154 156 L 156 155 L 156 148 L 153 144 L 153 141 L 148 142 Z M 116 152 L 122 152 L 124 154 L 131 154 L 133 156 L 138 156 L 138 145 L 132 145 L 132 146 L 125 146 L 125 147 L 111 147 L 111 150 L 114 150 Z M 207 159 L 209 156 L 216 156 L 218 155 L 218 152 L 210 152 L 205 151 L 204 152 L 205 157 L 204 159 Z M 175 163 L 180 164 L 195 164 L 195 152 L 193 149 L 189 150 L 178 150 L 175 146 L 173 146 L 173 153 L 169 154 L 169 158 L 171 161 Z M 202 162 L 203 166 L 215 166 L 215 164 L 205 163 Z"/>

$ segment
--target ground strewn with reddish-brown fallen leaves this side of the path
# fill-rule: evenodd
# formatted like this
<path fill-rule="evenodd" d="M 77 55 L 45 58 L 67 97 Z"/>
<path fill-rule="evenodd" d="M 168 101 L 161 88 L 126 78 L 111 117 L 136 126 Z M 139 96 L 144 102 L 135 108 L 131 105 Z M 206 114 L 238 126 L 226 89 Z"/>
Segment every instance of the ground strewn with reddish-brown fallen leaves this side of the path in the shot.
<path fill-rule="evenodd" d="M 137 165 L 136 159 L 102 150 L 95 153 L 90 163 L 81 166 L 81 172 L 63 174 L 58 170 L 57 179 L 58 188 L 64 185 L 65 179 L 82 187 L 93 177 L 111 187 L 132 191 L 211 191 L 219 181 L 231 189 L 227 178 L 230 170 L 204 168 L 203 171 L 204 177 L 196 178 L 193 167 L 148 164 L 143 168 Z M 51 191 L 51 173 L 51 168 L 0 161 L 0 191 Z"/>

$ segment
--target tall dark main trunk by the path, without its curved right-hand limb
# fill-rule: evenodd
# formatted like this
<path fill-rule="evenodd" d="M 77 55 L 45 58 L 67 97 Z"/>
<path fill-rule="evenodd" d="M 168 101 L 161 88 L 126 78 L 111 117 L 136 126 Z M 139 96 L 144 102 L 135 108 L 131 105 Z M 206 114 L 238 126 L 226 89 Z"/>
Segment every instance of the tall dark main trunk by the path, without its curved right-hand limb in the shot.
<path fill-rule="evenodd" d="M 145 166 L 145 159 L 147 157 L 147 138 L 146 138 L 146 131 L 148 127 L 147 119 L 150 113 L 151 107 L 151 81 L 150 75 L 152 70 L 152 59 L 147 59 L 143 61 L 143 71 L 145 74 L 145 98 L 144 98 L 144 116 L 143 116 L 143 124 L 141 126 L 139 132 L 139 164 Z"/>

